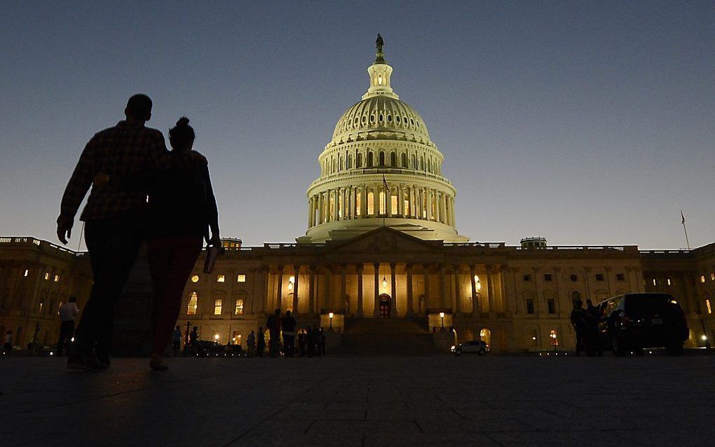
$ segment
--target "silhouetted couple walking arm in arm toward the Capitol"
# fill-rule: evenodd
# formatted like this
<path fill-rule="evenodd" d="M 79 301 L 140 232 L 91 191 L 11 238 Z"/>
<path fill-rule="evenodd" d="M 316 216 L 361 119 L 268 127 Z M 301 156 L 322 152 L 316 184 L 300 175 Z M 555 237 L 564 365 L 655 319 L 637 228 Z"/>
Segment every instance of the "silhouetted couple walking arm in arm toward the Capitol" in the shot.
<path fill-rule="evenodd" d="M 94 282 L 69 353 L 69 368 L 109 366 L 114 305 L 146 240 L 154 287 L 149 365 L 167 370 L 164 351 L 202 240 L 220 245 L 208 163 L 192 151 L 195 134 L 189 119 L 182 117 L 169 130 L 169 152 L 162 132 L 144 125 L 152 116 L 147 95 L 129 98 L 124 114 L 126 119 L 95 134 L 84 147 L 57 218 L 57 237 L 66 244 L 74 216 L 92 186 L 80 220 L 85 222 Z"/>

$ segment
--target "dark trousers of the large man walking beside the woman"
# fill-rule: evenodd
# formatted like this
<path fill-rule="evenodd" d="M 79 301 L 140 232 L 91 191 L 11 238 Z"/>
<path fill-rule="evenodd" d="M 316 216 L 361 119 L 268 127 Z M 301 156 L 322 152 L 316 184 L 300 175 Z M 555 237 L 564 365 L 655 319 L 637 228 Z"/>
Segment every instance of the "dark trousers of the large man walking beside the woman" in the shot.
<path fill-rule="evenodd" d="M 90 220 L 84 227 L 94 284 L 77 326 L 76 346 L 79 353 L 92 353 L 95 348 L 97 358 L 107 364 L 112 354 L 114 305 L 137 260 L 145 221 L 144 215 L 132 214 Z"/>

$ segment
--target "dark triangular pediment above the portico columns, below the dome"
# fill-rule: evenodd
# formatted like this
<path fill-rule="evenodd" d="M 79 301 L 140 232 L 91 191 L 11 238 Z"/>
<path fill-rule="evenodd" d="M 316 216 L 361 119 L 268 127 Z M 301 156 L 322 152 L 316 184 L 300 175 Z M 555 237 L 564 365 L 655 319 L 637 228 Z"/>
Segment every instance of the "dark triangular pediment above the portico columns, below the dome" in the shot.
<path fill-rule="evenodd" d="M 348 240 L 330 241 L 331 252 L 435 252 L 443 247 L 440 240 L 422 240 L 393 230 L 379 227 Z"/>

